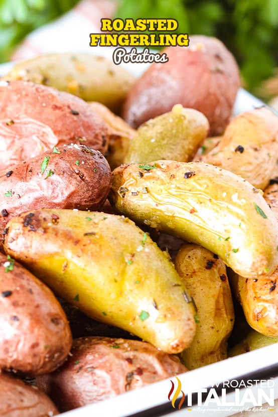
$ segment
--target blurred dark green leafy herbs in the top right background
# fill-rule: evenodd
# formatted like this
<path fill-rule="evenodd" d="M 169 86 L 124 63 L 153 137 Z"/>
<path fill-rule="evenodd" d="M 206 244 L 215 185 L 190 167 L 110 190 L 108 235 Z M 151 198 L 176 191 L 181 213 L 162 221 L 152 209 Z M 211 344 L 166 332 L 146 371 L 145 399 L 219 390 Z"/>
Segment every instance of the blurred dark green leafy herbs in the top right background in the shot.
<path fill-rule="evenodd" d="M 118 0 L 116 17 L 173 18 L 178 32 L 215 36 L 235 56 L 249 91 L 278 66 L 277 0 Z"/>

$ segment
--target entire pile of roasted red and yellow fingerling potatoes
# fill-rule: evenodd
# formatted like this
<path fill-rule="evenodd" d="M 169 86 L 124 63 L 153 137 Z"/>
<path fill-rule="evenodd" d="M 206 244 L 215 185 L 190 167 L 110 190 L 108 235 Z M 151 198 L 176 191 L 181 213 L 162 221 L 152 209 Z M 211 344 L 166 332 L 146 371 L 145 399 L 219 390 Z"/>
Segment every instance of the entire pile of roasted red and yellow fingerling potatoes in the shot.
<path fill-rule="evenodd" d="M 278 117 L 233 117 L 217 39 L 165 52 L 137 80 L 84 54 L 0 80 L 0 415 L 278 341 Z"/>

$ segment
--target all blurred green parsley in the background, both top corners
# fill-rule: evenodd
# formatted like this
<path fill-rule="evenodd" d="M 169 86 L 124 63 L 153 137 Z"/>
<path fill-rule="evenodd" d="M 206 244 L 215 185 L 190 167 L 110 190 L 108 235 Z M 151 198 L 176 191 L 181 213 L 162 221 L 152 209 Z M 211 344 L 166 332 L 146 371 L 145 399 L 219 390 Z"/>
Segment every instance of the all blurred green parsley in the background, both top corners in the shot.
<path fill-rule="evenodd" d="M 278 67 L 278 0 L 115 0 L 114 17 L 174 18 L 180 33 L 221 39 L 234 54 L 245 88 L 257 94 Z M 0 0 L 0 62 L 9 61 L 32 30 L 69 11 L 78 0 Z"/>

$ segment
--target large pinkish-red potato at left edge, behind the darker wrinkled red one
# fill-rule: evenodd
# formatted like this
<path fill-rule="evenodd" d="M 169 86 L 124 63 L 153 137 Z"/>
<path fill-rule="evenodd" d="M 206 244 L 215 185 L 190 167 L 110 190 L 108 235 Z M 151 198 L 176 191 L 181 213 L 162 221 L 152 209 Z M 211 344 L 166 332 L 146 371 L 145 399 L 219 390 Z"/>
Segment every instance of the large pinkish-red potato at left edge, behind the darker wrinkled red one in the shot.
<path fill-rule="evenodd" d="M 2 82 L 0 97 L 1 168 L 69 143 L 107 151 L 106 123 L 81 98 L 26 81 Z"/>

